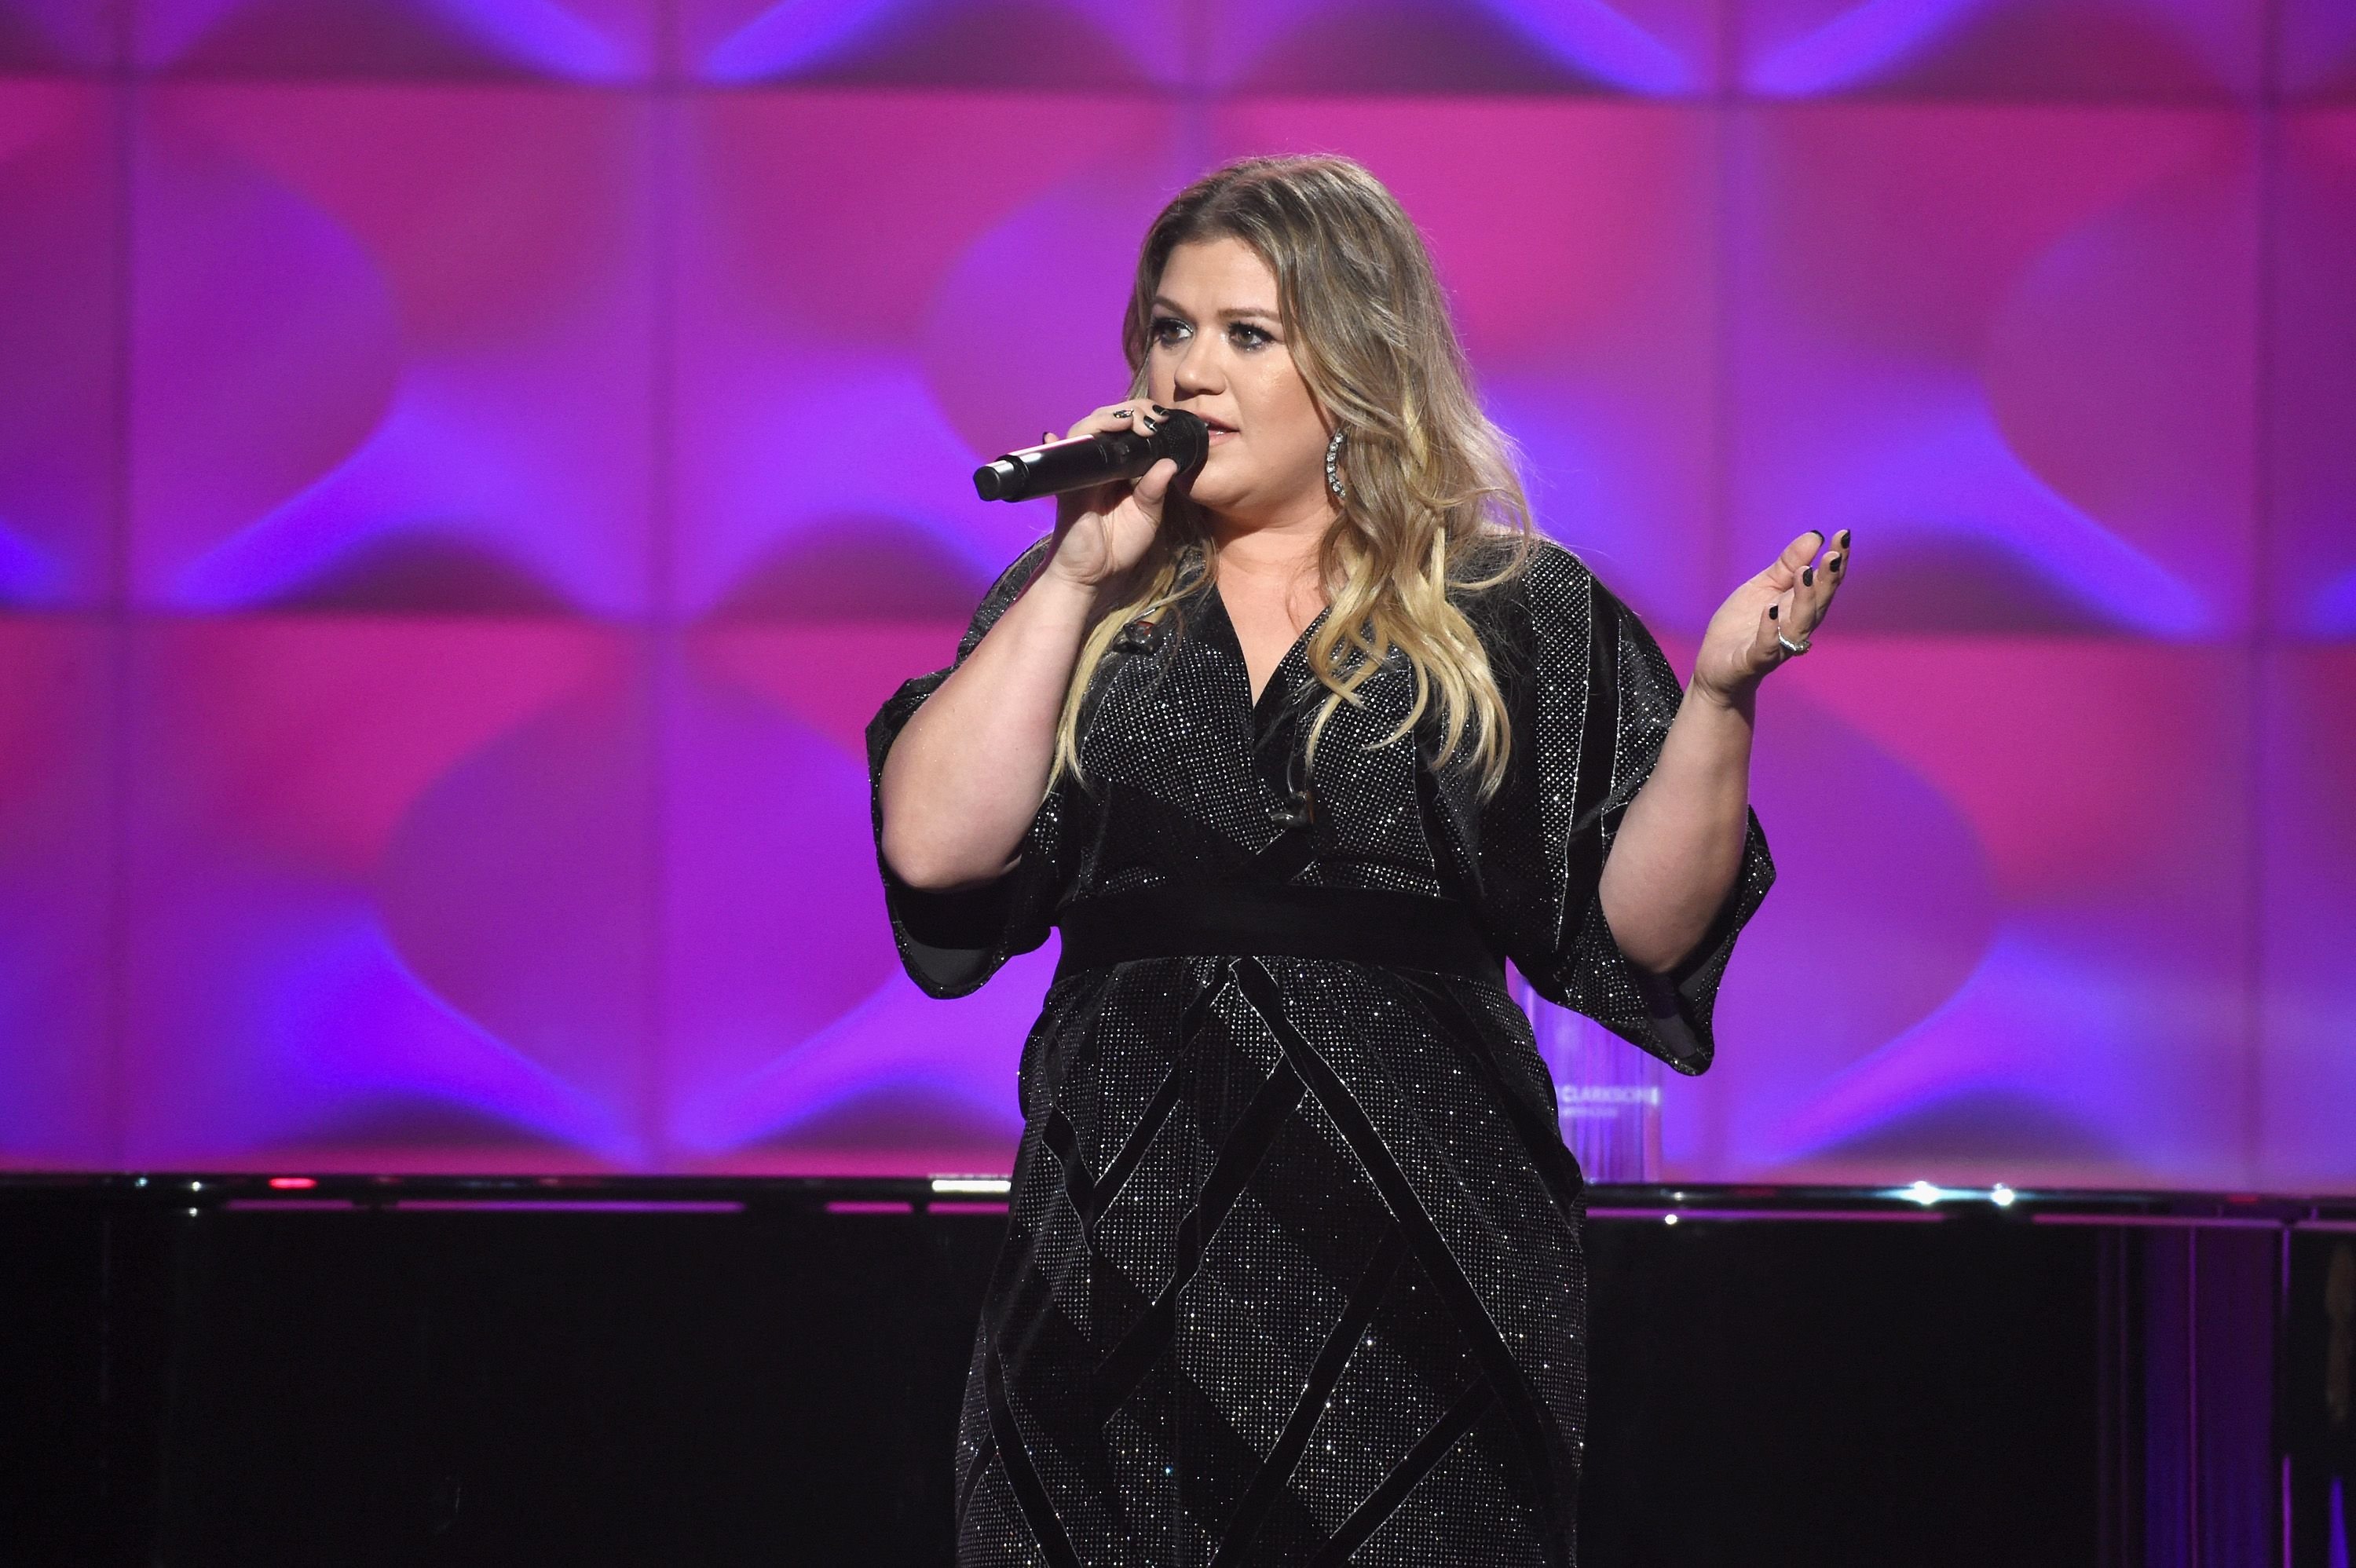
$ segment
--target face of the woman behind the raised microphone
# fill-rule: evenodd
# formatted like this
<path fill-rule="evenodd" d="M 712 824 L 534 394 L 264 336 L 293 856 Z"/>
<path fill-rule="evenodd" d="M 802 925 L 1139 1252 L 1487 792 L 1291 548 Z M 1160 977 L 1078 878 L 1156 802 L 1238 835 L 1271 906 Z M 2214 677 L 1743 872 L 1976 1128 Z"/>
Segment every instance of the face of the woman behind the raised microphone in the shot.
<path fill-rule="evenodd" d="M 1178 245 L 1154 294 L 1145 396 L 1211 426 L 1192 497 L 1239 527 L 1324 518 L 1326 426 L 1293 365 L 1277 278 L 1242 240 Z"/>

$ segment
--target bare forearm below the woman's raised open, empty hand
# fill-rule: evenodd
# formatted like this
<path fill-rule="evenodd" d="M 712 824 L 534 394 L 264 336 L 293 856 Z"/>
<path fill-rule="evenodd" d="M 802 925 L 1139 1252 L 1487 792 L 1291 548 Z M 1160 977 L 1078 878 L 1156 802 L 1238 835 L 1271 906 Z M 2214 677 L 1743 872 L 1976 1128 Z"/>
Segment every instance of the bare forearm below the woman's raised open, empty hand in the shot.
<path fill-rule="evenodd" d="M 1604 859 L 1602 904 L 1630 963 L 1687 958 L 1727 902 L 1751 829 L 1751 695 L 1689 687 Z"/>

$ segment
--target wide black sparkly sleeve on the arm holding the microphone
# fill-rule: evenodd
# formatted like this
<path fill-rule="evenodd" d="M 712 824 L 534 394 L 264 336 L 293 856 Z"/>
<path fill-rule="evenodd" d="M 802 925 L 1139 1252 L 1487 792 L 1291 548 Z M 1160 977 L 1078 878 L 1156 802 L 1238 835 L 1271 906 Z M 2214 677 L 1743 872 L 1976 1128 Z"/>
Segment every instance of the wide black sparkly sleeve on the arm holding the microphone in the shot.
<path fill-rule="evenodd" d="M 966 636 L 957 643 L 957 659 L 931 676 L 905 680 L 867 725 L 867 798 L 876 833 L 876 871 L 884 876 L 884 909 L 891 916 L 893 942 L 900 946 L 900 963 L 928 996 L 966 996 L 980 989 L 1011 956 L 1046 942 L 1060 890 L 1063 789 L 1048 791 L 1039 815 L 1032 817 L 1015 864 L 1004 876 L 935 892 L 907 885 L 884 859 L 884 758 L 924 699 L 966 662 L 982 633 L 1006 612 L 1006 605 L 1023 596 L 1023 589 L 1039 572 L 1039 563 L 1046 560 L 1048 544 L 1051 539 L 1039 539 L 1023 551 L 990 586 L 966 626 Z"/>

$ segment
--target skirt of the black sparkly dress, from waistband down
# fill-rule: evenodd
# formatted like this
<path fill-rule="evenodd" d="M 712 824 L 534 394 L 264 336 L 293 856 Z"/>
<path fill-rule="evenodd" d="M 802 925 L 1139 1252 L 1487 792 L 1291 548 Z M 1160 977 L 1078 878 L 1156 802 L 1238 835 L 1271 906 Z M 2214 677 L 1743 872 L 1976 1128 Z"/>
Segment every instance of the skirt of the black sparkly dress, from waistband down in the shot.
<path fill-rule="evenodd" d="M 1480 932 L 1098 904 L 1025 1050 L 957 1561 L 1569 1563 L 1581 1180 Z"/>

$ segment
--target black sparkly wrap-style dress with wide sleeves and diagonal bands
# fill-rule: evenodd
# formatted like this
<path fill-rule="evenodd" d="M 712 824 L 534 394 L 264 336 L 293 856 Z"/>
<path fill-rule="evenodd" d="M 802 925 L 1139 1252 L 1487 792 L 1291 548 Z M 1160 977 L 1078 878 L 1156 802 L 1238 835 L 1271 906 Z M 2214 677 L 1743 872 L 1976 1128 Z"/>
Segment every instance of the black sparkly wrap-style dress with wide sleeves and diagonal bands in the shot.
<path fill-rule="evenodd" d="M 1206 589 L 1105 655 L 1084 782 L 1013 871 L 942 895 L 884 869 L 935 996 L 1063 928 L 966 1382 L 959 1563 L 1576 1561 L 1583 1194 L 1501 958 L 1699 1074 L 1774 871 L 1753 819 L 1715 930 L 1640 977 L 1597 873 L 1677 678 L 1555 544 L 1458 603 L 1513 716 L 1489 800 L 1414 735 L 1369 746 L 1411 699 L 1399 662 L 1303 777 L 1305 638 L 1253 702 Z M 876 772 L 945 673 L 884 704 Z"/>

